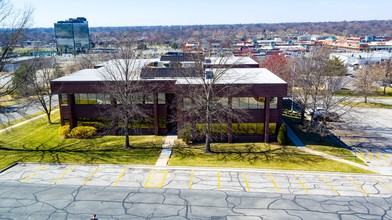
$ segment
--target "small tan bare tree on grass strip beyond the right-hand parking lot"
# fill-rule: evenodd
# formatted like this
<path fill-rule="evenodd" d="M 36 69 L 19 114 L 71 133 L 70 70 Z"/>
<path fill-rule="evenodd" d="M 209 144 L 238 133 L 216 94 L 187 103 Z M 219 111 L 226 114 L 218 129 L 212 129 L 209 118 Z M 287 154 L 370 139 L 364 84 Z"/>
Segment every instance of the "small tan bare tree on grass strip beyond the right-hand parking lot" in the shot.
<path fill-rule="evenodd" d="M 354 79 L 357 93 L 364 97 L 364 102 L 368 102 L 368 96 L 373 94 L 379 86 L 376 81 L 382 79 L 380 75 L 380 68 L 375 65 L 363 65 L 361 69 L 357 71 L 357 76 Z"/>

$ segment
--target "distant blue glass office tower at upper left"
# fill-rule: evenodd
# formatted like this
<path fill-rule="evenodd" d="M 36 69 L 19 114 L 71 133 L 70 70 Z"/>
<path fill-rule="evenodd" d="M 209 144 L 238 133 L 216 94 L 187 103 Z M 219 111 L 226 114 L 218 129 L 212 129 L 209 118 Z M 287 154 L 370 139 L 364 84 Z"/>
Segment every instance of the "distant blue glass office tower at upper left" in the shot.
<path fill-rule="evenodd" d="M 86 18 L 70 18 L 54 24 L 56 48 L 61 53 L 86 52 L 90 49 L 90 35 Z"/>

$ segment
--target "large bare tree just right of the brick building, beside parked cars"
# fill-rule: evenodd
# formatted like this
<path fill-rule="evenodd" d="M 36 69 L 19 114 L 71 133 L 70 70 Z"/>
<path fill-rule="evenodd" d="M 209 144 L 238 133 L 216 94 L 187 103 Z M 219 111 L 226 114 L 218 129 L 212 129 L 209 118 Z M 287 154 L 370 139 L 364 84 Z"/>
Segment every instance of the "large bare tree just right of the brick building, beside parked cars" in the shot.
<path fill-rule="evenodd" d="M 347 69 L 338 58 L 330 59 L 329 54 L 329 50 L 315 48 L 294 63 L 297 101 L 301 106 L 301 124 L 304 125 L 305 111 L 308 110 L 311 119 L 306 127 L 319 133 L 324 133 L 320 126 L 325 127 L 326 118 L 321 117 L 323 123 L 315 123 L 314 113 L 317 109 L 322 107 L 328 115 L 333 109 L 336 110 L 340 103 L 347 100 L 347 97 L 338 96 L 338 91 L 346 83 L 344 78 Z"/>

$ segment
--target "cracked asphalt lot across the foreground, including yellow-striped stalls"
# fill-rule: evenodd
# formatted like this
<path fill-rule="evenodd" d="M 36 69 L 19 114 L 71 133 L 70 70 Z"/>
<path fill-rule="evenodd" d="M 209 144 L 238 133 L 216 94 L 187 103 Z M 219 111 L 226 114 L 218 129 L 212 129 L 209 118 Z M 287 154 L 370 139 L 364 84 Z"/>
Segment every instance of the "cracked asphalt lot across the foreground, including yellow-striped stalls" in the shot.
<path fill-rule="evenodd" d="M 21 164 L 0 174 L 0 219 L 392 219 L 392 177 Z"/>

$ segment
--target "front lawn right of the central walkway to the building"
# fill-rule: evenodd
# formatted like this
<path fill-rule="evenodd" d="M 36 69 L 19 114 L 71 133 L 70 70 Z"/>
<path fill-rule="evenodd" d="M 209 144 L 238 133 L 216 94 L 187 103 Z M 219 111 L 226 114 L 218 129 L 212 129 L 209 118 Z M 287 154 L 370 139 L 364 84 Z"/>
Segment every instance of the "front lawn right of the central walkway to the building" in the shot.
<path fill-rule="evenodd" d="M 289 146 L 216 143 L 211 149 L 214 153 L 206 154 L 203 145 L 177 145 L 169 165 L 370 173 Z"/>

